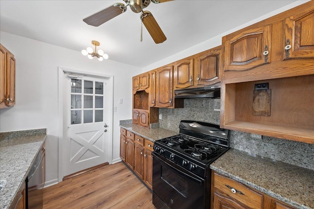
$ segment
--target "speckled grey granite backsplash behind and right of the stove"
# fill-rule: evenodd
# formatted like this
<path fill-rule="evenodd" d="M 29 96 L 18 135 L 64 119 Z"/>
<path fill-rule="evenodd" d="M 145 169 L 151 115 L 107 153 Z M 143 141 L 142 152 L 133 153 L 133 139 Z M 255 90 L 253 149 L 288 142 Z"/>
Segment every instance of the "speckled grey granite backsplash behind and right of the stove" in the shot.
<path fill-rule="evenodd" d="M 184 108 L 159 108 L 159 127 L 179 132 L 181 120 L 196 120 L 219 125 L 220 112 L 214 111 L 214 99 L 184 99 Z M 263 136 L 252 139 L 249 133 L 231 131 L 231 147 L 253 155 L 314 170 L 314 144 Z"/>

